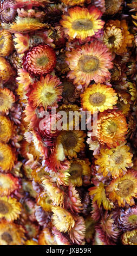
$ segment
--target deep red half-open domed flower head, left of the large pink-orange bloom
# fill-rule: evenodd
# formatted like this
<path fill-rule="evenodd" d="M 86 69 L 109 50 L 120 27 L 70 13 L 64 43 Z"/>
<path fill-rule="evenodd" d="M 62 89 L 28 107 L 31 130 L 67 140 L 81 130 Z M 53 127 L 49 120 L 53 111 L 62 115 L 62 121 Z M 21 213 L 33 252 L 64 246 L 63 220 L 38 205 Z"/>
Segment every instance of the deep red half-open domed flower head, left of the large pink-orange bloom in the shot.
<path fill-rule="evenodd" d="M 23 66 L 30 74 L 44 75 L 53 71 L 56 54 L 48 45 L 37 45 L 23 57 Z"/>

